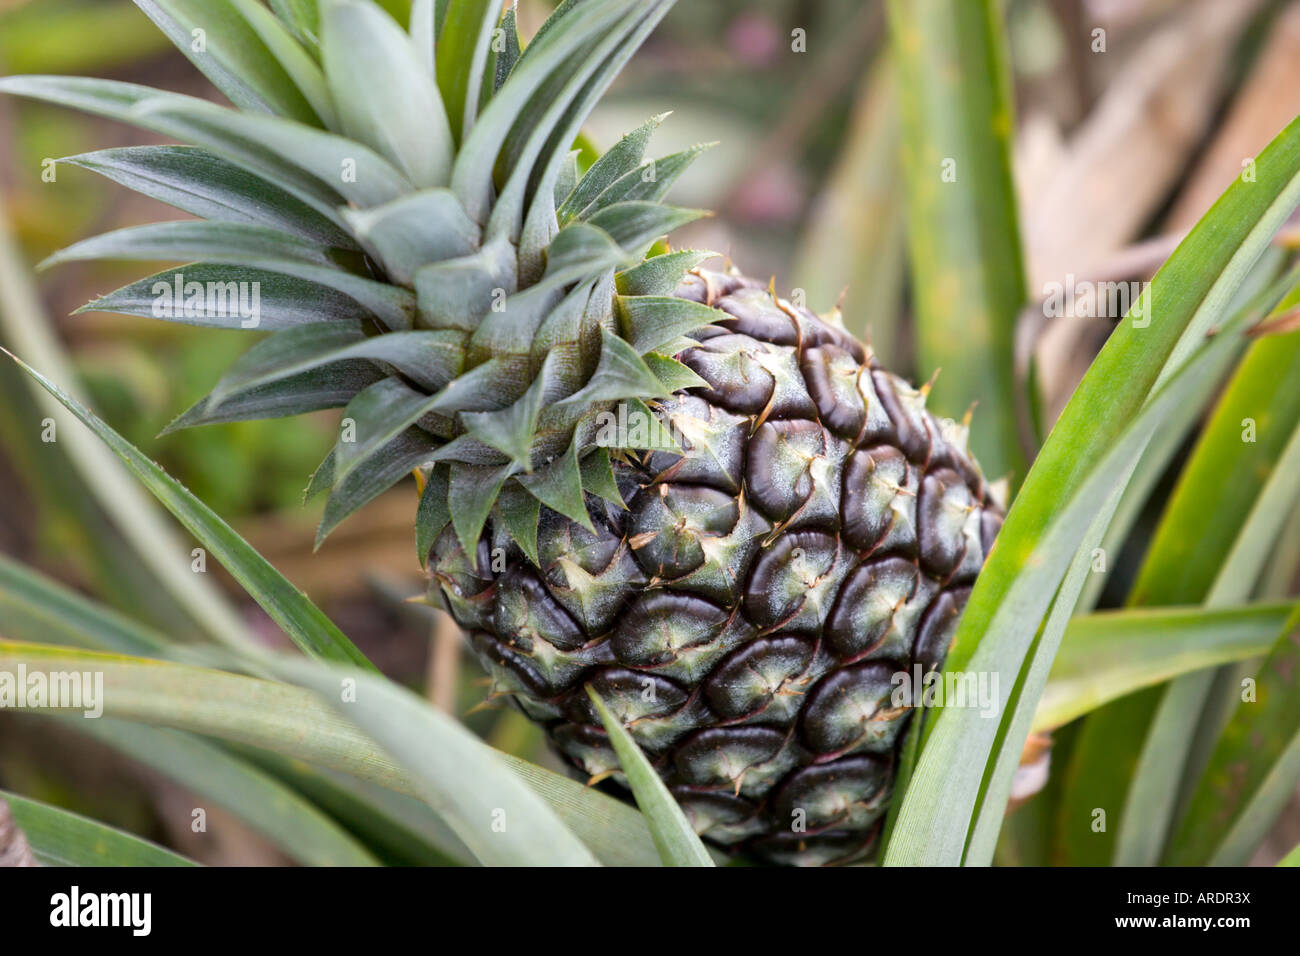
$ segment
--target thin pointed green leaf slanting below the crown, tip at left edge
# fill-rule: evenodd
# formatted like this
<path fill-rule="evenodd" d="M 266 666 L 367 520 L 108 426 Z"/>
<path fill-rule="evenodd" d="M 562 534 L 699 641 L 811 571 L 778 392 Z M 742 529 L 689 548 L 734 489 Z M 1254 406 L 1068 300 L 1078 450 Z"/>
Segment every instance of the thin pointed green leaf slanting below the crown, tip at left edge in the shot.
<path fill-rule="evenodd" d="M 57 385 L 20 359 L 14 359 L 14 362 L 117 453 L 117 457 L 153 497 L 222 563 L 240 587 L 248 592 L 248 596 L 261 605 L 272 620 L 280 624 L 281 630 L 304 653 L 373 670 L 373 665 L 365 656 L 316 605 L 307 600 L 303 592 L 285 580 L 270 562 L 254 550 L 207 505 L 140 454 L 139 449 L 109 428 L 94 412 L 64 394 Z"/>

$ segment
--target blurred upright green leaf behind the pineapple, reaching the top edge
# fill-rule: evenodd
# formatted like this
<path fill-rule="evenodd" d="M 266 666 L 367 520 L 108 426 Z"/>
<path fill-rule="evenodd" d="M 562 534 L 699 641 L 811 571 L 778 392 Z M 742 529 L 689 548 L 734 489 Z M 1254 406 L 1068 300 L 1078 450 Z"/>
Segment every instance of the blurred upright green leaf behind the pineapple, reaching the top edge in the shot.
<path fill-rule="evenodd" d="M 888 0 L 885 10 L 918 371 L 944 369 L 931 399 L 944 415 L 959 418 L 972 399 L 979 405 L 971 447 L 987 473 L 1011 472 L 1018 484 L 1027 463 L 1017 431 L 1024 395 L 1014 355 L 1027 278 L 1011 177 L 1015 103 L 1002 7 Z M 936 189 L 939 173 L 931 172 L 940 164 L 959 170 Z"/>

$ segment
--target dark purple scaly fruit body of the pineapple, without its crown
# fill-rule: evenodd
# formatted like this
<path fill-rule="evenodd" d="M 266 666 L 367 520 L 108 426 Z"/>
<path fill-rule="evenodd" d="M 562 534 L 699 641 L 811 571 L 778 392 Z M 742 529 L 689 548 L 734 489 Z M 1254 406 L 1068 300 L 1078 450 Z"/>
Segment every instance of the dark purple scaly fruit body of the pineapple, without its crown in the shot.
<path fill-rule="evenodd" d="M 628 509 L 588 496 L 594 535 L 542 509 L 541 568 L 499 529 L 469 561 L 447 528 L 434 584 L 576 769 L 618 769 L 590 685 L 707 840 L 861 861 L 910 717 L 894 675 L 942 662 L 1001 510 L 963 437 L 842 329 L 737 274 L 676 294 L 725 313 L 677 356 L 710 388 L 660 403 L 686 454 L 616 463 Z"/>

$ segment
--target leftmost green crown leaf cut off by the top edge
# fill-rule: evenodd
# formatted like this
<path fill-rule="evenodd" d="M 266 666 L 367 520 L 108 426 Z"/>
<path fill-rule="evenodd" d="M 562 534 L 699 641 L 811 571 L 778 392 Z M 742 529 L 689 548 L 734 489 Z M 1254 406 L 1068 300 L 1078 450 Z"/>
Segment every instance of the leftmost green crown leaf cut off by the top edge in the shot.
<path fill-rule="evenodd" d="M 231 103 L 316 125 L 294 79 L 230 0 L 135 0 Z"/>

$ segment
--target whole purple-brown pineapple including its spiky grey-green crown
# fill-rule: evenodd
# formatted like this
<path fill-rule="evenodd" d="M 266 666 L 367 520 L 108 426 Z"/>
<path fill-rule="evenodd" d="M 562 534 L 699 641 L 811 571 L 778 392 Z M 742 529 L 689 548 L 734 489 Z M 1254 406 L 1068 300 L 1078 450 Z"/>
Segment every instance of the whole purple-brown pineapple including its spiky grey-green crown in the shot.
<path fill-rule="evenodd" d="M 140 7 L 234 109 L 0 91 L 191 143 L 66 160 L 199 220 L 51 259 L 190 261 L 86 308 L 270 333 L 172 427 L 342 407 L 320 537 L 415 471 L 432 601 L 577 770 L 621 782 L 592 687 L 716 845 L 867 858 L 896 678 L 942 662 L 1001 509 L 836 315 L 660 242 L 701 215 L 663 202 L 699 148 L 644 160 L 662 117 L 578 174 L 671 0 L 566 0 L 523 49 L 499 0 Z"/>

